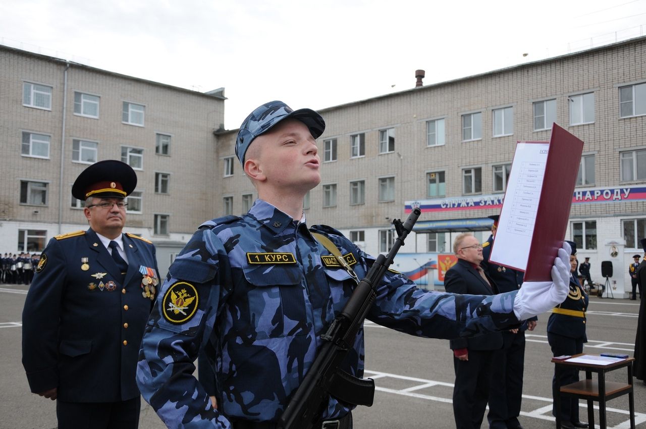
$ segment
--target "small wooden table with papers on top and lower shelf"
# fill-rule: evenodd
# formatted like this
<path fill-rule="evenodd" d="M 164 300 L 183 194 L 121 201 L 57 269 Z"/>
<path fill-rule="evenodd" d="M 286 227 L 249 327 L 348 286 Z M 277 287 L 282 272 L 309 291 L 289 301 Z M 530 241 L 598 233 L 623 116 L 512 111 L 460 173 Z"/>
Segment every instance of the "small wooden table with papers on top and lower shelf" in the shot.
<path fill-rule="evenodd" d="M 572 357 L 583 356 L 583 354 L 590 355 L 589 353 L 581 353 Z M 598 355 L 590 355 L 598 356 Z M 575 398 L 582 398 L 588 401 L 588 422 L 590 428 L 594 428 L 594 407 L 593 401 L 599 403 L 599 426 L 601 429 L 606 429 L 606 410 L 605 404 L 609 399 L 628 394 L 629 410 L 630 410 L 630 428 L 635 428 L 635 405 L 634 396 L 632 391 L 632 362 L 635 359 L 629 357 L 623 361 L 614 362 L 609 365 L 589 364 L 579 362 L 555 361 L 556 375 L 556 390 L 554 392 L 554 404 L 556 410 L 561 409 L 561 395 L 573 396 Z M 605 381 L 605 373 L 609 371 L 618 370 L 619 368 L 628 368 L 628 383 Z M 576 368 L 577 370 L 585 371 L 585 380 L 559 386 L 559 373 L 564 368 Z M 592 380 L 592 373 L 598 373 L 598 379 Z M 578 402 L 578 401 L 577 401 Z M 577 405 L 578 406 L 578 405 Z M 561 429 L 561 415 L 556 413 L 556 428 Z"/>

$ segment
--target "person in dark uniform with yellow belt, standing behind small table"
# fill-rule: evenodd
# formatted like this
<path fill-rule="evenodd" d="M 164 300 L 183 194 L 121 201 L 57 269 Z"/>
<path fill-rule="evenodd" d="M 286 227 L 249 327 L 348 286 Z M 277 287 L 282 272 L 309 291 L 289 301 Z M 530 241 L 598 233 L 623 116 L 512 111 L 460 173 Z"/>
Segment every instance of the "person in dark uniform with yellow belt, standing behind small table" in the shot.
<path fill-rule="evenodd" d="M 588 308 L 588 295 L 575 277 L 577 269 L 576 244 L 568 242 L 572 248 L 570 255 L 570 292 L 561 304 L 552 309 L 547 320 L 547 341 L 552 348 L 552 355 L 572 356 L 583 353 L 583 343 L 588 342 L 585 335 L 585 311 Z M 559 386 L 579 381 L 579 370 L 561 368 Z M 552 379 L 552 395 L 556 389 L 556 369 Z M 552 409 L 552 415 L 561 415 L 561 428 L 587 428 L 588 424 L 579 421 L 579 400 L 561 396 L 561 409 Z"/>

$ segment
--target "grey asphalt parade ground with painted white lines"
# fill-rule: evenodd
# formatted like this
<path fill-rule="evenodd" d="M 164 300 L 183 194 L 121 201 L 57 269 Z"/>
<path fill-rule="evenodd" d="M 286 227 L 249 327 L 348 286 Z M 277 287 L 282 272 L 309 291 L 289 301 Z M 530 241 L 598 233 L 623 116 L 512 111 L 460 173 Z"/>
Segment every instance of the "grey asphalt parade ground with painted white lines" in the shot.
<path fill-rule="evenodd" d="M 21 314 L 28 286 L 0 285 L 0 428 L 56 428 L 56 404 L 29 392 L 21 364 Z M 639 301 L 590 297 L 589 342 L 584 353 L 625 353 L 632 356 Z M 523 408 L 525 429 L 554 428 L 552 417 L 552 353 L 545 331 L 548 313 L 539 316 L 536 330 L 526 333 Z M 448 340 L 421 339 L 366 322 L 366 377 L 375 379 L 371 407 L 353 412 L 356 429 L 453 428 L 452 351 Z M 99 369 L 98 369 L 99 370 Z M 607 373 L 607 381 L 626 382 L 624 369 Z M 585 377 L 581 373 L 581 377 Z M 593 375 L 596 377 L 596 375 Z M 635 423 L 646 428 L 646 385 L 634 379 Z M 579 401 L 582 421 L 587 404 Z M 598 408 L 595 403 L 598 426 Z M 607 403 L 608 427 L 630 427 L 628 396 Z M 482 425 L 487 428 L 485 422 Z M 157 415 L 142 401 L 141 429 L 163 429 Z"/>

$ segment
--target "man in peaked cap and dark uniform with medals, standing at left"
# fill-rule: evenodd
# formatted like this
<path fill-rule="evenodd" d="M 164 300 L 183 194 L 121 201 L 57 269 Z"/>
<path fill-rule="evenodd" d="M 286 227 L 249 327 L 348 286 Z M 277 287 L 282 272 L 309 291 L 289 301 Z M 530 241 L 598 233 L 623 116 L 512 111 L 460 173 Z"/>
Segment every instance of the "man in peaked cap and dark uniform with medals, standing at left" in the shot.
<path fill-rule="evenodd" d="M 26 297 L 23 366 L 31 391 L 56 399 L 60 429 L 139 424 L 137 356 L 160 280 L 152 243 L 121 232 L 136 184 L 115 160 L 79 174 L 90 227 L 49 241 Z"/>

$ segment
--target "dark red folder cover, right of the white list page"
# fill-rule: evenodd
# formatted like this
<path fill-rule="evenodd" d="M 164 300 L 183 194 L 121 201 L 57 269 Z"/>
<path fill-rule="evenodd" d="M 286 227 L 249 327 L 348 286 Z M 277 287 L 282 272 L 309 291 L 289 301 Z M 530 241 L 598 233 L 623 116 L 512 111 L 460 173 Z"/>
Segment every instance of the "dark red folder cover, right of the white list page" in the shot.
<path fill-rule="evenodd" d="M 582 140 L 556 123 L 552 125 L 543 188 L 525 270 L 526 282 L 552 281 L 552 266 L 558 249 L 563 246 L 582 152 Z"/>

